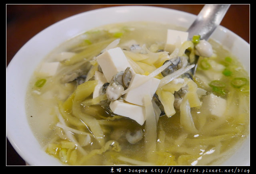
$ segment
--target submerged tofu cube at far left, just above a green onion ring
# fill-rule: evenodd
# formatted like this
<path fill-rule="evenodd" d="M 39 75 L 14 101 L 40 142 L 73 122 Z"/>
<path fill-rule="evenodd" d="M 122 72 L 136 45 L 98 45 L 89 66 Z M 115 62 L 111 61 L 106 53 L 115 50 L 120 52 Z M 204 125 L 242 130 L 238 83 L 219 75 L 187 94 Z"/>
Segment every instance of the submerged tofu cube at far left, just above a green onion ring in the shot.
<path fill-rule="evenodd" d="M 38 72 L 46 76 L 54 76 L 58 70 L 59 65 L 59 62 L 46 62 L 41 65 Z"/>

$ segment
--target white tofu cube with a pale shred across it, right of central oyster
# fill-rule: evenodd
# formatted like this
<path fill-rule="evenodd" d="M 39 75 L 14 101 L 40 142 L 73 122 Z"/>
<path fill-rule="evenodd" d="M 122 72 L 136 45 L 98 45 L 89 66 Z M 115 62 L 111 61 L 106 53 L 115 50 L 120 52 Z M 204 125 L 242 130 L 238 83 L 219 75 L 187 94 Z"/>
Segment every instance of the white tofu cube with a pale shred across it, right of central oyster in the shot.
<path fill-rule="evenodd" d="M 150 80 L 144 82 L 142 85 L 138 86 L 138 83 L 143 81 L 146 76 L 141 74 L 134 74 L 130 82 L 129 88 L 131 90 L 124 95 L 124 100 L 132 104 L 143 106 L 143 98 L 146 95 L 149 95 L 152 99 L 156 89 L 160 83 L 160 79 L 150 78 Z"/>

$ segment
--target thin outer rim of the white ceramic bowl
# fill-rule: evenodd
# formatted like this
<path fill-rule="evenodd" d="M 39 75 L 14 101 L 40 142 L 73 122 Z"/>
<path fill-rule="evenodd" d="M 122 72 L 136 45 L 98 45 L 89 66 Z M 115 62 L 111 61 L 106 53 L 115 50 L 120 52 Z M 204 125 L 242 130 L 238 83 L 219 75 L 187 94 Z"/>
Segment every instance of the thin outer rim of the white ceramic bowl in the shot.
<path fill-rule="evenodd" d="M 65 23 L 67 21 L 70 21 L 70 20 L 74 20 L 75 18 L 79 18 L 80 16 L 84 16 L 84 15 L 94 15 L 98 12 L 102 12 L 102 11 L 111 11 L 111 10 L 125 10 L 125 9 L 135 9 L 135 10 L 138 10 L 138 9 L 142 9 L 142 10 L 161 10 L 161 11 L 166 11 L 166 12 L 175 12 L 175 13 L 178 13 L 178 14 L 182 14 L 182 15 L 186 15 L 186 16 L 190 16 L 190 18 L 195 18 L 196 15 L 194 14 L 190 14 L 188 12 L 183 12 L 183 11 L 179 11 L 179 10 L 175 10 L 175 9 L 170 9 L 170 8 L 164 8 L 164 7 L 156 7 L 156 6 L 114 6 L 114 7 L 105 7 L 105 8 L 99 8 L 99 9 L 95 9 L 95 10 L 90 10 L 90 11 L 86 11 L 86 12 L 82 12 L 82 13 L 79 13 L 79 14 L 76 14 L 76 15 L 73 15 L 73 16 L 70 16 L 68 18 L 65 18 L 63 20 L 60 20 L 59 22 L 56 22 L 48 27 L 46 27 L 45 29 L 43 29 L 42 31 L 40 31 L 39 33 L 37 33 L 36 35 L 34 35 L 34 37 L 32 37 L 28 42 L 26 42 L 21 48 L 20 50 L 14 55 L 13 59 L 10 61 L 10 63 L 8 64 L 8 66 L 6 67 L 6 138 L 8 138 L 8 140 L 10 141 L 11 145 L 14 147 L 14 149 L 16 150 L 16 152 L 26 161 L 28 162 L 28 164 L 31 164 L 31 165 L 45 165 L 47 163 L 44 163 L 42 162 L 42 160 L 40 162 L 36 162 L 35 160 L 38 160 L 38 158 L 33 158 L 31 155 L 28 156 L 26 154 L 26 151 L 24 151 L 24 149 L 22 149 L 20 147 L 20 142 L 18 142 L 17 139 L 14 138 L 13 136 L 13 131 L 10 130 L 11 127 L 9 126 L 9 120 L 8 120 L 8 111 L 10 110 L 10 108 L 8 108 L 8 97 L 9 97 L 9 93 L 8 93 L 8 85 L 11 84 L 11 81 L 9 80 L 8 77 L 10 77 L 10 74 L 12 72 L 12 68 L 14 66 L 14 64 L 16 63 L 16 61 L 18 60 L 19 58 L 19 55 L 21 53 L 21 51 L 23 51 L 24 49 L 26 49 L 27 45 L 29 45 L 32 41 L 34 41 L 34 39 L 36 39 L 39 35 L 42 35 L 44 34 L 45 32 L 51 30 L 53 27 L 56 27 L 57 25 L 60 25 L 62 23 Z M 190 23 L 191 24 L 191 23 Z M 188 25 L 190 25 L 188 24 Z M 239 39 L 239 41 L 241 42 L 244 42 L 243 44 L 246 45 L 246 47 L 250 47 L 250 44 L 247 43 L 246 41 L 244 41 L 244 39 L 242 39 L 240 36 L 236 35 L 236 33 L 230 31 L 229 29 L 223 27 L 223 26 L 218 26 L 217 30 L 221 30 L 221 31 L 224 31 L 225 32 L 229 32 L 231 33 L 232 35 L 234 35 L 234 37 L 237 37 Z M 85 31 L 83 29 L 83 31 Z M 75 35 L 79 35 L 80 33 L 76 33 Z M 75 36 L 73 35 L 73 37 Z M 214 35 L 214 34 L 213 34 Z M 41 59 L 40 59 L 41 60 Z M 250 73 L 250 66 L 249 66 L 249 73 Z M 10 78 L 12 79 L 12 78 Z M 27 85 L 27 84 L 26 84 Z M 13 98 L 12 98 L 13 99 Z M 8 110 L 9 109 L 9 110 Z M 250 134 L 249 134 L 249 137 L 250 137 Z M 45 152 L 44 152 L 45 153 Z M 46 153 L 45 153 L 46 154 Z M 49 156 L 47 154 L 47 156 Z M 56 159 L 54 158 L 53 159 L 53 162 L 56 161 Z M 54 162 L 54 165 L 58 165 L 58 161 L 57 162 Z M 49 165 L 49 164 L 48 164 Z M 60 164 L 60 165 L 63 165 L 63 164 Z"/>

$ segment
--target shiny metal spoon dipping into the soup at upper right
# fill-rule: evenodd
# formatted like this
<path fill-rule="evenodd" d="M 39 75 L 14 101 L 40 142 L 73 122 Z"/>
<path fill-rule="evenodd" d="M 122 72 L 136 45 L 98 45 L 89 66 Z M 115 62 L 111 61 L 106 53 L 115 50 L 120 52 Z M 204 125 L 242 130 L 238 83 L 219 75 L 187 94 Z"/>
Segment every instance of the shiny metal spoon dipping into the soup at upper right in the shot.
<path fill-rule="evenodd" d="M 200 35 L 201 39 L 208 40 L 210 35 L 216 29 L 224 18 L 230 4 L 206 4 L 199 12 L 196 20 L 188 28 L 188 39 L 192 39 L 194 35 Z M 198 57 L 194 62 L 192 75 L 196 72 Z"/>

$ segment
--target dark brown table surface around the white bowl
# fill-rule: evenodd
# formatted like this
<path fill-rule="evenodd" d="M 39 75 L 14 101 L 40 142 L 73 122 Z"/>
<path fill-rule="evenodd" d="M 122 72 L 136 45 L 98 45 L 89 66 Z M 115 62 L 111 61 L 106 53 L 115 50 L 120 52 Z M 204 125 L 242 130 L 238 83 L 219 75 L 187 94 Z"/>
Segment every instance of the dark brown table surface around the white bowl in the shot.
<path fill-rule="evenodd" d="M 16 5 L 6 4 L 6 67 L 17 51 L 34 35 L 69 16 L 122 4 Z M 131 5 L 131 4 L 129 4 Z M 136 4 L 159 6 L 197 15 L 203 4 Z M 232 4 L 220 24 L 250 43 L 250 4 Z M 6 166 L 26 165 L 6 138 Z"/>

